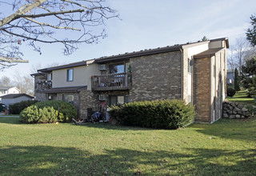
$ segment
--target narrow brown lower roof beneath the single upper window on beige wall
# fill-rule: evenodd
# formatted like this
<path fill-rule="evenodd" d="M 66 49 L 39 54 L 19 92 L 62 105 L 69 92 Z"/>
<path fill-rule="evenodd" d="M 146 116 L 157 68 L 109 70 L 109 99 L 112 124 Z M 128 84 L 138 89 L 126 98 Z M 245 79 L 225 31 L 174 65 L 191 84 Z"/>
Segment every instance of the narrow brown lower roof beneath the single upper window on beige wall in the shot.
<path fill-rule="evenodd" d="M 77 93 L 85 90 L 87 86 L 56 87 L 48 90 L 38 90 L 40 93 Z"/>

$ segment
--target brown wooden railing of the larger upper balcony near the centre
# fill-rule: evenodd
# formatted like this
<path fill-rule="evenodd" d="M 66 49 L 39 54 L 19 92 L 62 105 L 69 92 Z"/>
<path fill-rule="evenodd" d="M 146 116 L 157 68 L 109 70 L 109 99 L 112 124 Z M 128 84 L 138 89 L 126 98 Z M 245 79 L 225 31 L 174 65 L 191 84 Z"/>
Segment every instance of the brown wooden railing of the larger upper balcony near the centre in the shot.
<path fill-rule="evenodd" d="M 92 90 L 130 90 L 131 73 L 102 74 L 91 77 Z"/>

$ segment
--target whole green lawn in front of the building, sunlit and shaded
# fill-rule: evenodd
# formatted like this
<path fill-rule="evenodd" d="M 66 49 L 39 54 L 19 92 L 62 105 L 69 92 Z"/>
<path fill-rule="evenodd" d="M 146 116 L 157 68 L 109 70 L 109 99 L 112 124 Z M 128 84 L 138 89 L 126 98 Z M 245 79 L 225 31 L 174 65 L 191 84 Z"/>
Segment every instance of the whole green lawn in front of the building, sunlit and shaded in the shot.
<path fill-rule="evenodd" d="M 0 134 L 0 175 L 256 174 L 256 118 L 152 130 L 0 117 Z"/>

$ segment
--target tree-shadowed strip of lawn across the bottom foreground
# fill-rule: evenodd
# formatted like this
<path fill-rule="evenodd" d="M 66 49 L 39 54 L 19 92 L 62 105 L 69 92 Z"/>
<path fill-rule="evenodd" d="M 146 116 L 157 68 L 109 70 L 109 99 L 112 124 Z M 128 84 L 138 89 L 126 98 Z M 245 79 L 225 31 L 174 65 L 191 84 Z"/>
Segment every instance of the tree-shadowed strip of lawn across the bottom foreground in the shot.
<path fill-rule="evenodd" d="M 256 174 L 256 150 L 118 148 L 91 154 L 71 147 L 6 146 L 0 154 L 3 175 Z"/>

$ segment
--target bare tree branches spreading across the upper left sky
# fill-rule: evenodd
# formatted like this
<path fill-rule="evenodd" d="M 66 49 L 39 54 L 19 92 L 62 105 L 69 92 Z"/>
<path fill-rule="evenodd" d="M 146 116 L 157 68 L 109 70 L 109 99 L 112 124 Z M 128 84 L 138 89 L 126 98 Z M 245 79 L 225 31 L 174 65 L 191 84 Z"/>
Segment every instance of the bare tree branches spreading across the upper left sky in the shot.
<path fill-rule="evenodd" d="M 23 42 L 40 54 L 38 42 L 62 43 L 64 54 L 71 54 L 79 43 L 105 38 L 105 31 L 96 30 L 95 26 L 118 17 L 105 3 L 103 0 L 0 0 L 0 6 L 14 11 L 9 16 L 0 16 L 0 69 L 27 62 L 22 60 L 19 50 Z M 69 33 L 63 33 L 66 30 Z"/>

